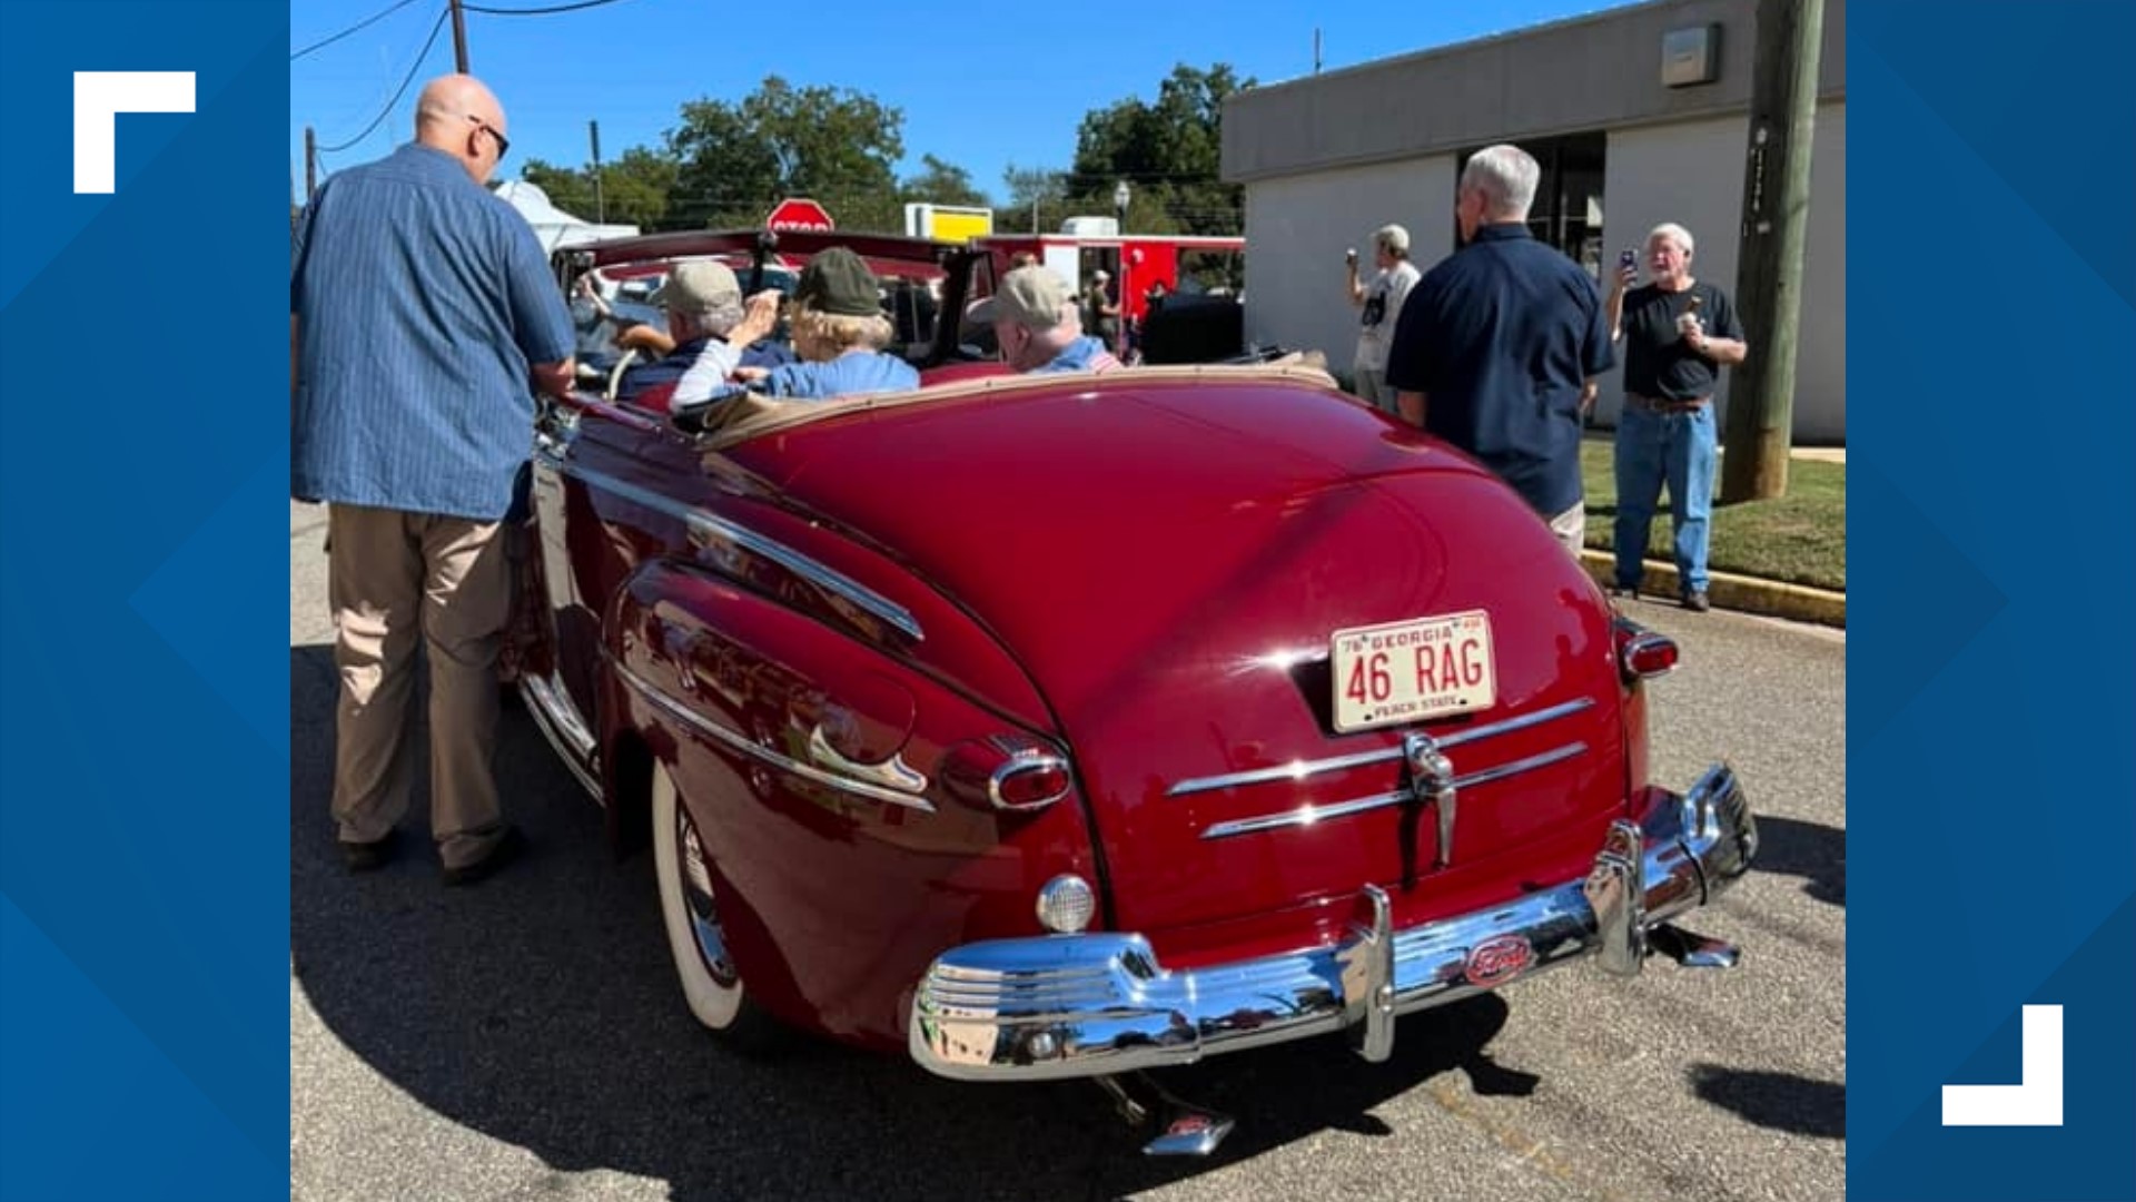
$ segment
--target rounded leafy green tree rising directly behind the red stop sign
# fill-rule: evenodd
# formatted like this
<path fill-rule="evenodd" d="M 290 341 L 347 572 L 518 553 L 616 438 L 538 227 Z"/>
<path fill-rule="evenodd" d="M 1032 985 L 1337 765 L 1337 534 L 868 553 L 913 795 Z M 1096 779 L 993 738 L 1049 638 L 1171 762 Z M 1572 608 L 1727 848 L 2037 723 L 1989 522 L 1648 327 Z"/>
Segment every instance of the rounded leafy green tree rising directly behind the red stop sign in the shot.
<path fill-rule="evenodd" d="M 666 133 L 677 165 L 669 216 L 692 227 L 758 225 L 780 199 L 810 197 L 842 229 L 901 229 L 904 120 L 865 92 L 795 88 L 778 75 L 735 105 L 690 101 Z"/>

